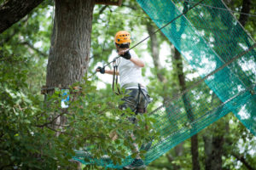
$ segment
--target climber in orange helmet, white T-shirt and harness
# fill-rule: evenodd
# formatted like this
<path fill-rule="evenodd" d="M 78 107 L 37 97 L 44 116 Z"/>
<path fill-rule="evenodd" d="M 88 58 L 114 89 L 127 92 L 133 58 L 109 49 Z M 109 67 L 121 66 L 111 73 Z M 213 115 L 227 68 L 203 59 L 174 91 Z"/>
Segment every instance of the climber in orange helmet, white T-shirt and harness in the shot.
<path fill-rule="evenodd" d="M 104 67 L 97 67 L 96 71 L 102 74 L 107 73 L 113 75 L 114 73 L 119 75 L 120 87 L 125 89 L 125 94 L 128 94 L 123 99 L 123 102 L 119 105 L 119 109 L 125 110 L 130 108 L 131 111 L 137 114 L 143 114 L 147 111 L 149 102 L 149 96 L 147 88 L 143 81 L 142 68 L 144 62 L 139 59 L 134 50 L 130 49 L 131 35 L 128 31 L 118 31 L 114 37 L 115 47 L 120 58 L 117 61 L 119 63 L 119 71 L 105 70 Z M 128 120 L 132 123 L 137 123 L 136 116 L 128 117 Z M 131 138 L 135 140 L 135 136 L 131 133 Z M 137 144 L 133 143 L 135 150 L 139 153 Z M 145 164 L 139 154 L 130 165 L 124 167 L 124 169 L 142 169 L 145 168 Z"/>

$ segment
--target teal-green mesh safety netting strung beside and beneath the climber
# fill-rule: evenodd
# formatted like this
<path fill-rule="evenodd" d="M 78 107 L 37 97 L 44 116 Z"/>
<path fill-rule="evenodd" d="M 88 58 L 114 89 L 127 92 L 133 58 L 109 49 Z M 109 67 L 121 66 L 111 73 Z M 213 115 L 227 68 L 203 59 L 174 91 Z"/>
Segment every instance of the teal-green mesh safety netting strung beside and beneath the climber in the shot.
<path fill-rule="evenodd" d="M 158 27 L 165 26 L 198 2 L 137 0 Z M 205 80 L 150 113 L 157 119 L 154 128 L 160 133 L 160 139 L 152 137 L 145 164 L 230 112 L 256 135 L 255 42 L 224 3 L 205 0 L 161 31 Z M 242 54 L 245 51 L 247 53 Z M 238 55 L 240 57 L 234 59 Z M 108 156 L 94 159 L 83 150 L 77 150 L 73 159 L 116 169 L 133 160 L 127 156 L 121 165 L 114 165 Z"/>

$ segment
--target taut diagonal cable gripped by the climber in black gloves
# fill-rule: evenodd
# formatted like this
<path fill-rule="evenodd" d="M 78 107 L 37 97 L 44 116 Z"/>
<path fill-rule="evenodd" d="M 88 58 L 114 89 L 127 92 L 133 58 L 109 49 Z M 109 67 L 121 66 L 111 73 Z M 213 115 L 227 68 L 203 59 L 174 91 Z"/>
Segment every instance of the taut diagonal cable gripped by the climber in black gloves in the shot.
<path fill-rule="evenodd" d="M 182 14 L 177 15 L 177 17 L 175 17 L 174 19 L 172 19 L 172 20 L 171 20 L 170 22 L 168 22 L 165 26 L 162 26 L 162 27 L 160 27 L 159 29 L 155 30 L 151 35 L 149 35 L 148 37 L 145 37 L 142 41 L 137 42 L 137 44 L 135 44 L 134 46 L 132 46 L 131 48 L 129 48 L 127 51 L 130 51 L 132 48 L 136 48 L 139 44 L 141 44 L 142 42 L 146 41 L 149 37 L 151 37 L 152 35 L 154 35 L 156 32 L 158 32 L 158 31 L 162 30 L 163 28 L 165 28 L 166 26 L 170 25 L 174 20 L 177 20 L 178 18 L 180 18 L 180 17 L 183 16 L 184 14 L 187 14 L 190 9 L 195 8 L 197 5 L 199 5 L 199 4 L 200 4 L 201 2 L 203 2 L 203 1 L 204 1 L 204 0 L 201 0 L 201 1 L 198 2 L 198 3 L 195 3 L 195 5 L 194 5 L 193 7 L 189 8 L 188 10 L 186 10 L 185 12 L 183 12 Z M 116 58 L 113 59 L 112 61 L 108 62 L 108 64 L 103 65 L 103 67 L 106 67 L 106 66 L 110 65 L 111 63 L 113 63 L 114 61 L 116 61 L 116 59 L 119 59 L 120 57 L 121 57 L 121 56 L 116 57 Z M 94 76 L 96 73 L 97 73 L 97 71 L 95 71 L 95 72 L 91 75 L 91 77 Z"/>

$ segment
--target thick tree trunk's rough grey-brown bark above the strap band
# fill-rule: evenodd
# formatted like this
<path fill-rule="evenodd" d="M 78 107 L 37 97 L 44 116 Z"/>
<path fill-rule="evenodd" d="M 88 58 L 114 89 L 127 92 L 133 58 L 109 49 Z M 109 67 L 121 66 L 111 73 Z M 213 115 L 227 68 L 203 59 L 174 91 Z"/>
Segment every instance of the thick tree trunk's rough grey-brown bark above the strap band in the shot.
<path fill-rule="evenodd" d="M 47 65 L 47 87 L 67 88 L 82 80 L 90 56 L 94 0 L 56 0 Z"/>

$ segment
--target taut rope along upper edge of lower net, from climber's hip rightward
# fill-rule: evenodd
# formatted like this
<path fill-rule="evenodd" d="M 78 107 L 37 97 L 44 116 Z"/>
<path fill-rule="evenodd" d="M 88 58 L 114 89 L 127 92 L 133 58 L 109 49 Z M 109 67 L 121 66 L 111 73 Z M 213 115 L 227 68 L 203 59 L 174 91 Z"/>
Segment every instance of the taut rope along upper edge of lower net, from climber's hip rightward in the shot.
<path fill-rule="evenodd" d="M 159 111 L 161 108 L 163 108 L 167 103 L 172 102 L 173 100 L 179 98 L 180 96 L 182 96 L 183 94 L 186 94 L 189 92 L 189 90 L 191 90 L 192 88 L 195 88 L 196 86 L 198 86 L 199 84 L 201 84 L 201 82 L 204 82 L 208 77 L 211 77 L 212 75 L 214 75 L 215 73 L 217 73 L 218 71 L 221 71 L 224 69 L 225 66 L 230 65 L 231 63 L 233 63 L 236 59 L 241 58 L 241 56 L 247 54 L 249 51 L 251 51 L 253 48 L 256 48 L 256 43 L 253 44 L 253 46 L 251 46 L 250 48 L 247 48 L 247 50 L 241 52 L 240 54 L 237 54 L 234 58 L 230 59 L 229 62 L 225 63 L 224 65 L 222 65 L 221 67 L 218 67 L 218 69 L 210 72 L 206 77 L 203 77 L 200 81 L 195 82 L 192 86 L 190 86 L 189 88 L 186 88 L 185 90 L 183 90 L 182 93 L 177 93 L 174 94 L 174 97 L 172 97 L 172 99 L 167 100 L 163 105 L 160 105 L 158 108 L 156 108 L 154 111 L 151 111 L 149 113 L 149 115 L 154 114 L 156 111 Z"/>

